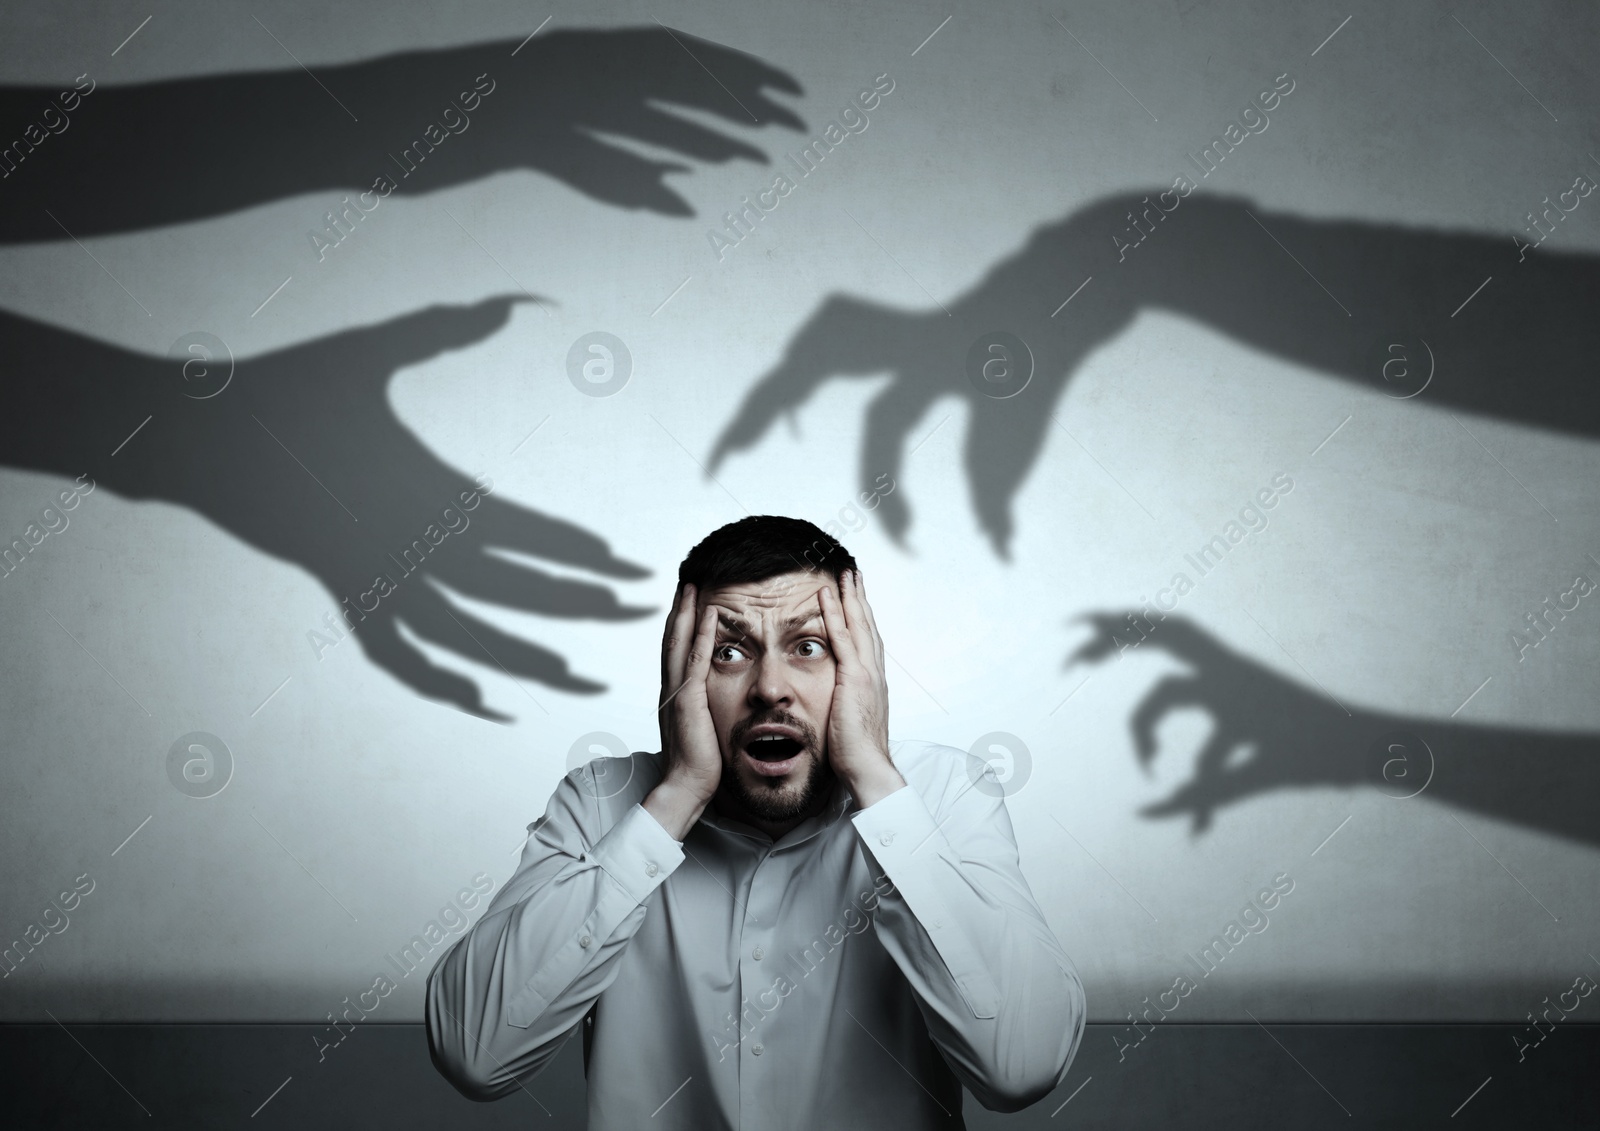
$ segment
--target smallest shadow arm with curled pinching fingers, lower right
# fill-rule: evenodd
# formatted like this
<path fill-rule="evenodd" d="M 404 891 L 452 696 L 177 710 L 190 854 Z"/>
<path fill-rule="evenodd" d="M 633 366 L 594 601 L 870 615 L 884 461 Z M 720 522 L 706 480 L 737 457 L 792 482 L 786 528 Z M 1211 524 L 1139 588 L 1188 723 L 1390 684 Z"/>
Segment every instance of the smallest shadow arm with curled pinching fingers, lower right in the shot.
<path fill-rule="evenodd" d="M 1174 710 L 1211 717 L 1189 782 L 1142 809 L 1189 814 L 1198 835 L 1216 809 L 1283 789 L 1373 787 L 1395 803 L 1437 801 L 1600 846 L 1600 734 L 1485 726 L 1339 705 L 1224 646 L 1189 617 L 1085 617 L 1093 635 L 1070 657 L 1102 661 L 1158 648 L 1192 667 L 1163 677 L 1133 712 L 1139 763 Z M 1240 757 L 1243 755 L 1243 757 Z"/>

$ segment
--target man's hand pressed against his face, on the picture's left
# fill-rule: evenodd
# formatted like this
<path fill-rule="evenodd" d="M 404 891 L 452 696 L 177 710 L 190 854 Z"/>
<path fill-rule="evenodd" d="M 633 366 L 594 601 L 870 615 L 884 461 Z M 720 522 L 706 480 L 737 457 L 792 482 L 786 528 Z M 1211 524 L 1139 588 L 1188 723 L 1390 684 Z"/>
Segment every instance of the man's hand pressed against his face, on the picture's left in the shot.
<path fill-rule="evenodd" d="M 683 585 L 661 638 L 661 782 L 643 806 L 675 840 L 699 821 L 722 781 L 722 747 L 706 697 L 717 643 L 717 606 L 694 616 L 694 585 Z"/>

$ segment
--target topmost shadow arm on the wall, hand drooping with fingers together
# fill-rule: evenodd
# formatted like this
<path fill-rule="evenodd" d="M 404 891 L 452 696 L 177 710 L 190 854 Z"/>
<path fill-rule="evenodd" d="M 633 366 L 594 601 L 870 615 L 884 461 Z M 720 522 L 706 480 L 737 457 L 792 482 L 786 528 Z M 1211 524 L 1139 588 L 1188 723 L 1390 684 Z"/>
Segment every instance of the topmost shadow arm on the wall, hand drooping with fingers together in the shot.
<path fill-rule="evenodd" d="M 379 178 L 410 195 L 509 170 L 618 208 L 691 216 L 666 184 L 688 165 L 603 134 L 696 162 L 765 163 L 754 146 L 667 107 L 803 128 L 768 88 L 802 90 L 754 56 L 666 27 L 405 51 L 318 66 L 315 77 L 0 86 L 0 243 L 178 224 L 304 192 L 349 190 L 354 208 L 370 210 L 387 194 L 360 194 Z"/>

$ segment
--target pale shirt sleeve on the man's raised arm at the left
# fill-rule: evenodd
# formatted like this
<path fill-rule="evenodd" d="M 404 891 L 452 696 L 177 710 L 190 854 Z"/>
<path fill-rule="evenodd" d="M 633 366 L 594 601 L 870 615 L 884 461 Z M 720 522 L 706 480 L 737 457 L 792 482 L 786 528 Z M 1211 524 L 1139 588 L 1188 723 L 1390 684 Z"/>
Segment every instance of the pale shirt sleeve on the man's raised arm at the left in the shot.
<path fill-rule="evenodd" d="M 602 832 L 586 769 L 562 779 L 515 875 L 427 977 L 429 1051 L 472 1099 L 514 1091 L 560 1051 L 614 981 L 645 901 L 683 862 L 640 805 Z"/>

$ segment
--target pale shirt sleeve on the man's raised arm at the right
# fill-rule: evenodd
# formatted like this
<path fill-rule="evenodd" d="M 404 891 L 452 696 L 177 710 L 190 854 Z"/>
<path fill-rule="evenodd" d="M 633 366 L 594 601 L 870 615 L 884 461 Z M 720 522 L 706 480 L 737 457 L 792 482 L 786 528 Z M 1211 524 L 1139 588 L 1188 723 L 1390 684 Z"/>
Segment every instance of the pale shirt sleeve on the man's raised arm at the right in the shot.
<path fill-rule="evenodd" d="M 1014 1112 L 1066 1078 L 1083 984 L 1022 877 L 1003 798 L 950 779 L 938 813 L 906 785 L 853 822 L 894 885 L 874 923 L 930 1037 L 984 1107 Z"/>

